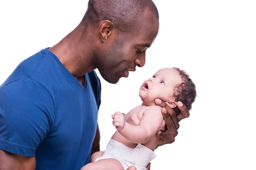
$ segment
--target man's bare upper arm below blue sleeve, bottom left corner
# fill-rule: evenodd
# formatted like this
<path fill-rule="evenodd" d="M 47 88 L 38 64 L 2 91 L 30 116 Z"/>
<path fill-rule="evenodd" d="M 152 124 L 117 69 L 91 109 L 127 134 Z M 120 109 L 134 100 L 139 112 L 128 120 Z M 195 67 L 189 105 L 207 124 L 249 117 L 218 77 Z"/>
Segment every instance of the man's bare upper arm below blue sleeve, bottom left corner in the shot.
<path fill-rule="evenodd" d="M 20 156 L 0 150 L 0 170 L 35 170 L 35 165 L 35 156 Z"/>

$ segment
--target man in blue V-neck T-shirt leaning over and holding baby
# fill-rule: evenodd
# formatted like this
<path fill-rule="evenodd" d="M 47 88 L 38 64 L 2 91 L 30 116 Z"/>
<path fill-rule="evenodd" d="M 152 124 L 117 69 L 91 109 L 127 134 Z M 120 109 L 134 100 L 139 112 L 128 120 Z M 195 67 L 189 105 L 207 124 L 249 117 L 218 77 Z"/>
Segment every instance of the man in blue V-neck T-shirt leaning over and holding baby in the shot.
<path fill-rule="evenodd" d="M 79 170 L 87 164 L 100 139 L 101 85 L 93 70 L 110 83 L 128 77 L 145 65 L 158 28 L 151 0 L 89 0 L 79 26 L 21 62 L 0 86 L 0 170 Z M 167 126 L 158 146 L 174 142 L 178 122 L 189 116 L 179 104 L 176 116 L 157 103 Z"/>

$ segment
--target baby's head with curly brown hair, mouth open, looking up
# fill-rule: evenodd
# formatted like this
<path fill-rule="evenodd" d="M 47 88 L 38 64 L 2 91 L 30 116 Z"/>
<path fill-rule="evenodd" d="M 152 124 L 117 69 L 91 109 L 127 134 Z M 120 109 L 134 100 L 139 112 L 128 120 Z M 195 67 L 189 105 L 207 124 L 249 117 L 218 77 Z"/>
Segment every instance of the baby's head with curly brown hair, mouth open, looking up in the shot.
<path fill-rule="evenodd" d="M 171 106 L 176 114 L 180 110 L 176 107 L 177 101 L 183 102 L 190 110 L 195 101 L 195 84 L 185 71 L 179 68 L 163 68 L 153 77 L 143 82 L 139 92 L 143 104 L 155 105 L 154 99 L 159 98 Z"/>

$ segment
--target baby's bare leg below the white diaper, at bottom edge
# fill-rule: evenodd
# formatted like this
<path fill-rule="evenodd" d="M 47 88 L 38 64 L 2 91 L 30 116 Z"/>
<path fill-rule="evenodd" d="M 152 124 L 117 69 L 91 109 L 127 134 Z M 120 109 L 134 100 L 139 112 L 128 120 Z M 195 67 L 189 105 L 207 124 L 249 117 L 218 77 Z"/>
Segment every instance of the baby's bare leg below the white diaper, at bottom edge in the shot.
<path fill-rule="evenodd" d="M 124 168 L 117 159 L 108 158 L 89 163 L 81 170 L 124 170 Z"/>

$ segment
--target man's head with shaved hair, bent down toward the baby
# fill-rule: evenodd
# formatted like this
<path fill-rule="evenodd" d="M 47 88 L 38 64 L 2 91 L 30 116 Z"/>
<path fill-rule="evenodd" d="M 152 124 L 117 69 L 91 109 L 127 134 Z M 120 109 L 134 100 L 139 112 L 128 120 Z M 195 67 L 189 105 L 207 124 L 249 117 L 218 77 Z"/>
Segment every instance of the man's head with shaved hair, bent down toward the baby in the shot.
<path fill-rule="evenodd" d="M 106 81 L 116 83 L 145 65 L 145 50 L 157 36 L 159 16 L 151 0 L 89 0 L 80 25 L 91 30 L 93 65 Z"/>

